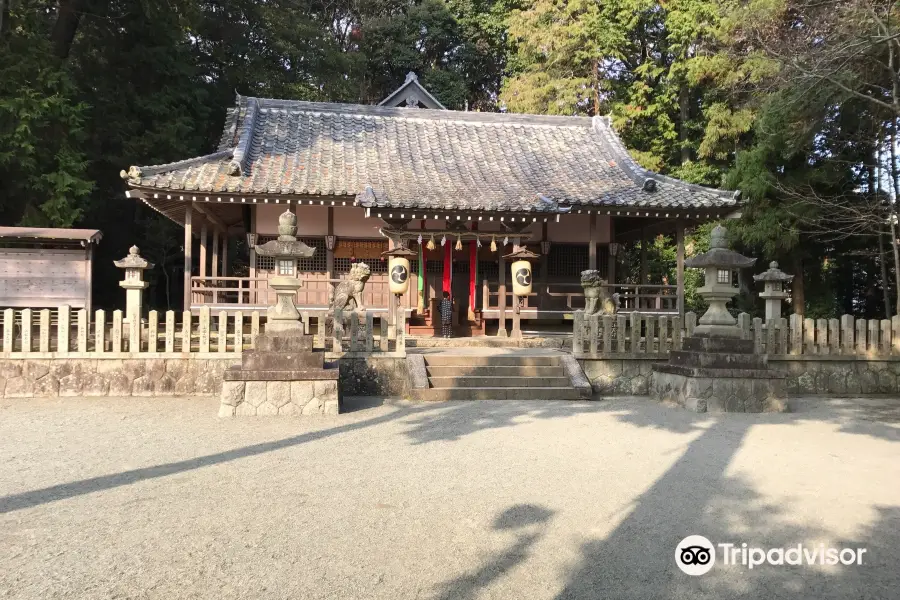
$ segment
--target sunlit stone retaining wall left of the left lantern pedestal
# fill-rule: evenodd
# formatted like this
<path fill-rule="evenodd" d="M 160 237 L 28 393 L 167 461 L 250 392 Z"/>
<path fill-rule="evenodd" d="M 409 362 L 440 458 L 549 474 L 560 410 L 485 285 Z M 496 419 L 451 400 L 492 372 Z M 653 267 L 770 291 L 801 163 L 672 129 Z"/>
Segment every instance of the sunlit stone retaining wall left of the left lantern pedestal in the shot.
<path fill-rule="evenodd" d="M 240 357 L 0 359 L 4 398 L 217 396 Z"/>

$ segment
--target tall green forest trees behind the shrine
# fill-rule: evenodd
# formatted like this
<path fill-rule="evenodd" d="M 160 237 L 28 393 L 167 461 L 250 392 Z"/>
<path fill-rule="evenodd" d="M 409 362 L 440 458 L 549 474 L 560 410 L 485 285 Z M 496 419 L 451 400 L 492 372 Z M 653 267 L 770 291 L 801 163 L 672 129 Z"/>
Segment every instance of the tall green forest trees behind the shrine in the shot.
<path fill-rule="evenodd" d="M 165 307 L 182 233 L 121 169 L 209 152 L 235 92 L 368 104 L 414 71 L 452 109 L 612 115 L 644 167 L 743 192 L 732 243 L 795 275 L 794 310 L 890 316 L 898 24 L 860 0 L 0 0 L 0 223 L 102 230 L 106 307 L 138 242 Z M 671 239 L 648 256 L 674 281 Z"/>

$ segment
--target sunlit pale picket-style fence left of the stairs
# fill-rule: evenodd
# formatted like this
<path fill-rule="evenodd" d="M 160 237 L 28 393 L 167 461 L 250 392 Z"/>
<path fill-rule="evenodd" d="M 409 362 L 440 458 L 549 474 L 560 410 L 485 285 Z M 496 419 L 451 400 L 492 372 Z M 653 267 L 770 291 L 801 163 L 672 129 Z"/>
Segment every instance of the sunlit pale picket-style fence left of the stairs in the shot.
<path fill-rule="evenodd" d="M 260 311 L 219 311 L 213 315 L 207 307 L 197 315 L 153 310 L 146 319 L 135 322 L 126 322 L 120 310 L 111 314 L 98 310 L 88 320 L 87 311 L 72 311 L 68 306 L 53 310 L 8 308 L 0 316 L 0 357 L 236 355 L 253 348 L 261 329 L 265 331 Z M 314 335 L 316 348 L 333 353 L 405 353 L 406 312 L 402 309 L 397 312 L 396 327 L 390 327 L 387 318 L 380 318 L 376 329 L 376 315 L 369 311 L 338 313 L 337 327 L 326 327 L 328 317 L 323 311 L 301 313 L 304 331 Z"/>

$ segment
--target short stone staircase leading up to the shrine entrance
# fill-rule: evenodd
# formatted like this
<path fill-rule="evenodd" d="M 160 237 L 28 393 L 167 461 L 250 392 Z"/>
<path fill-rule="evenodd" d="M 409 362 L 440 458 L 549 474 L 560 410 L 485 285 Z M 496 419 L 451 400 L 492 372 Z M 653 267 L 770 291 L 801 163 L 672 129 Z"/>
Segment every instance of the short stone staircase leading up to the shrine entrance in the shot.
<path fill-rule="evenodd" d="M 581 400 L 590 383 L 571 356 L 556 354 L 410 354 L 415 400 Z"/>

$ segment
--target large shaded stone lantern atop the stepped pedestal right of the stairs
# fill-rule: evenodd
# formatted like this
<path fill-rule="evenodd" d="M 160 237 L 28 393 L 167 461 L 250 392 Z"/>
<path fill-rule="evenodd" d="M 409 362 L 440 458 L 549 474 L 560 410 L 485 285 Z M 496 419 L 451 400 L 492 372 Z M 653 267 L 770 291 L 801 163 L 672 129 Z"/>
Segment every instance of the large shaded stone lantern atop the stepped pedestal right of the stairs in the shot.
<path fill-rule="evenodd" d="M 709 309 L 700 317 L 694 335 L 710 337 L 740 337 L 737 320 L 731 316 L 725 305 L 736 294 L 732 285 L 731 272 L 756 264 L 755 258 L 748 258 L 728 249 L 725 228 L 721 225 L 712 230 L 709 251 L 684 261 L 686 267 L 704 269 L 703 287 L 697 293 L 709 302 Z"/>

